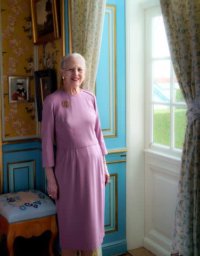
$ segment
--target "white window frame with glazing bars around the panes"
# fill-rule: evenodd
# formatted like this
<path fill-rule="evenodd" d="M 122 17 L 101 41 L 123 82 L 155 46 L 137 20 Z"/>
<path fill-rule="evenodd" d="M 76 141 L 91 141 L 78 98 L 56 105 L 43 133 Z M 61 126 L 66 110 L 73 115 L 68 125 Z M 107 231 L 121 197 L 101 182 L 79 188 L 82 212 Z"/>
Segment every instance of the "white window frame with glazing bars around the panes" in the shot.
<path fill-rule="evenodd" d="M 161 7 L 155 6 L 145 10 L 145 149 L 156 151 L 164 155 L 171 155 L 180 158 L 182 150 L 173 148 L 174 145 L 174 107 L 186 107 L 186 103 L 175 103 L 174 99 L 174 74 L 171 62 L 170 74 L 170 102 L 153 101 L 153 60 L 170 60 L 170 57 L 153 58 L 153 17 L 162 15 Z M 170 147 L 153 143 L 153 105 L 170 106 Z"/>

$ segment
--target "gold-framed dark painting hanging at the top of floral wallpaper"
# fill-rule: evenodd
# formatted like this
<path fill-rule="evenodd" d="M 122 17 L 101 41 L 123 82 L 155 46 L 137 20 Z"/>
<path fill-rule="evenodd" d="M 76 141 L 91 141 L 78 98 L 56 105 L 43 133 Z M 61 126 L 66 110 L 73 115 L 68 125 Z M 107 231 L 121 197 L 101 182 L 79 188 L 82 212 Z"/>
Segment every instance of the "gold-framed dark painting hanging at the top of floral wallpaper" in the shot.
<path fill-rule="evenodd" d="M 60 37 L 58 0 L 31 0 L 34 44 L 43 44 Z"/>

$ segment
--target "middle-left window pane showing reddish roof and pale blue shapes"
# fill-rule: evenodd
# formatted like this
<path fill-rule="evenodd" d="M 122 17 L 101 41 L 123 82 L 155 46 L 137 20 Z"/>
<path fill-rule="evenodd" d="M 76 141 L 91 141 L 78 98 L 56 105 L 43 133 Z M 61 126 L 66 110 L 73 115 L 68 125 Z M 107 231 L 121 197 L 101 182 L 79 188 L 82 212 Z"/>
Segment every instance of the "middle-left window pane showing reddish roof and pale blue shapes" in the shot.
<path fill-rule="evenodd" d="M 153 62 L 153 100 L 170 101 L 170 60 Z"/>

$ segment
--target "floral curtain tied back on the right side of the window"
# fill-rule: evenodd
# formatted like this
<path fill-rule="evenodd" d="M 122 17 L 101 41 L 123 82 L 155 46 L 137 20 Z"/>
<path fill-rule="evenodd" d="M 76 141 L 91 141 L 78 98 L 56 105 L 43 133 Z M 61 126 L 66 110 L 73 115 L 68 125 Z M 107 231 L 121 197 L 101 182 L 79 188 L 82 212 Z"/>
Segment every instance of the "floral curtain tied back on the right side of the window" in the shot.
<path fill-rule="evenodd" d="M 200 255 L 200 2 L 160 0 L 166 37 L 180 90 L 187 103 L 187 127 L 171 253 Z"/>

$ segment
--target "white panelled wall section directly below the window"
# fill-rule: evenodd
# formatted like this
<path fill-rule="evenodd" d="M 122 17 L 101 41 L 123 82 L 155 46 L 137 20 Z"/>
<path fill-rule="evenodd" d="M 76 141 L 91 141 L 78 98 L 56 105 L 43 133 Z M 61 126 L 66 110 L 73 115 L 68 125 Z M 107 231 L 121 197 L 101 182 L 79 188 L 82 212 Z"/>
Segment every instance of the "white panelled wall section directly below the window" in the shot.
<path fill-rule="evenodd" d="M 153 154 L 145 155 L 146 249 L 158 256 L 170 255 L 180 162 Z"/>

